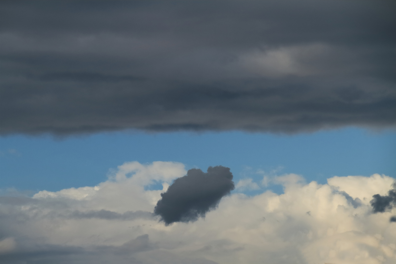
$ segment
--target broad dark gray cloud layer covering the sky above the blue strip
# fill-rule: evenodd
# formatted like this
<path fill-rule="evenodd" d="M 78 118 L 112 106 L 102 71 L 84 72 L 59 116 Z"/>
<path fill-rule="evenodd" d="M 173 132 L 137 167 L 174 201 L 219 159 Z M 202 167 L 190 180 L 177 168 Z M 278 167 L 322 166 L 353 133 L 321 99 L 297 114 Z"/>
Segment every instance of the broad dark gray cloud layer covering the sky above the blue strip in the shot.
<path fill-rule="evenodd" d="M 3 135 L 396 123 L 394 1 L 0 5 Z"/>

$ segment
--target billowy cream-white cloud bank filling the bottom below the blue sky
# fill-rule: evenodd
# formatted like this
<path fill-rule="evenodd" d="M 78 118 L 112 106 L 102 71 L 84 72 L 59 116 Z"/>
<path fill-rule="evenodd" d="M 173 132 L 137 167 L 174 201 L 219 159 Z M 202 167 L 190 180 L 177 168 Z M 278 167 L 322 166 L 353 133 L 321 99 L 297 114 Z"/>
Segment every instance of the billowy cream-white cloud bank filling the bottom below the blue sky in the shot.
<path fill-rule="evenodd" d="M 195 222 L 150 215 L 183 164 L 121 165 L 106 182 L 0 199 L 0 263 L 392 264 L 394 208 L 373 213 L 394 179 L 275 177 L 284 194 L 234 191 Z M 145 186 L 162 182 L 163 190 Z M 133 217 L 132 217 L 133 216 Z"/>

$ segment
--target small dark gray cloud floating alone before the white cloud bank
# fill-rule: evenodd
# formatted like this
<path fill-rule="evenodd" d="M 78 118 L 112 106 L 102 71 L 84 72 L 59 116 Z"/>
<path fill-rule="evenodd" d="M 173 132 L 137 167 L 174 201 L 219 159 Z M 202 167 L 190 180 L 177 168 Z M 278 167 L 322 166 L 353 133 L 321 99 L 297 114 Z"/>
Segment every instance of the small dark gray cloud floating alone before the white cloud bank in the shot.
<path fill-rule="evenodd" d="M 194 222 L 198 217 L 214 209 L 220 199 L 234 190 L 230 169 L 223 166 L 209 167 L 204 173 L 190 169 L 169 186 L 154 208 L 165 224 L 173 222 Z"/>

